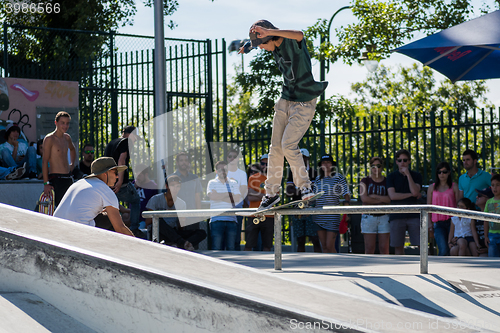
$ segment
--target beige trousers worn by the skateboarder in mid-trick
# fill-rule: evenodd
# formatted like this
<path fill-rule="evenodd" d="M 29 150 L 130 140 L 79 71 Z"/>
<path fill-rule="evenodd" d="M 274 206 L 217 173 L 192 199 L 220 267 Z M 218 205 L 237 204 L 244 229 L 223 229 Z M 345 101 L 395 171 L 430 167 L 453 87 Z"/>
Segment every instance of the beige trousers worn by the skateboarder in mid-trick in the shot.
<path fill-rule="evenodd" d="M 265 186 L 267 195 L 273 196 L 280 190 L 284 157 L 290 164 L 295 186 L 311 187 L 298 144 L 314 117 L 316 100 L 317 98 L 309 102 L 291 102 L 280 98 L 274 106 L 273 134 Z"/>

